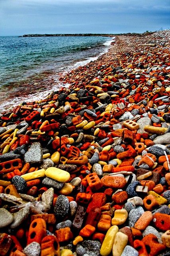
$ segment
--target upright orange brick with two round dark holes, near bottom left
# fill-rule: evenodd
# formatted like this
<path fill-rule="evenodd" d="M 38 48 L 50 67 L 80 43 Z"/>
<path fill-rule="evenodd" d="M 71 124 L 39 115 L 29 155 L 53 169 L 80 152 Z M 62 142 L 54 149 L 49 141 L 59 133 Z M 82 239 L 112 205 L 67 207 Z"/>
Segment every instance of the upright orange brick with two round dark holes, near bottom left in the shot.
<path fill-rule="evenodd" d="M 41 244 L 42 239 L 46 236 L 45 220 L 37 218 L 31 222 L 28 232 L 27 244 L 37 242 Z"/>

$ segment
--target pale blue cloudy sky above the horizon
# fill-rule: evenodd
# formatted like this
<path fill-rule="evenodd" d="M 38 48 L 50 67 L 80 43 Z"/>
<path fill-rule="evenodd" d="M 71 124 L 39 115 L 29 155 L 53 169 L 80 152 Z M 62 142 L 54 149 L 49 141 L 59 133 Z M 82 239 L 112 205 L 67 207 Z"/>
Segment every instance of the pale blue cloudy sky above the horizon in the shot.
<path fill-rule="evenodd" d="M 0 36 L 170 28 L 170 0 L 0 0 Z"/>

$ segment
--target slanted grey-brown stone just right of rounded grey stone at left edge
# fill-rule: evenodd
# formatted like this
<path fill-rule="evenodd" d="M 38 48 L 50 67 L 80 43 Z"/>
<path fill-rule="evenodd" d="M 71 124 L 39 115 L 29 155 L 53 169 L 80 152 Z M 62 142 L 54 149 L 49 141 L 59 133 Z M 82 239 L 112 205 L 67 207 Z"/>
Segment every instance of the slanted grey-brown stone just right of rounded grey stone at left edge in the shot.
<path fill-rule="evenodd" d="M 20 224 L 28 218 L 29 213 L 29 206 L 22 208 L 21 210 L 19 210 L 19 212 L 13 213 L 12 215 L 14 217 L 14 222 L 11 224 L 10 228 L 17 228 L 18 226 L 20 226 Z"/>

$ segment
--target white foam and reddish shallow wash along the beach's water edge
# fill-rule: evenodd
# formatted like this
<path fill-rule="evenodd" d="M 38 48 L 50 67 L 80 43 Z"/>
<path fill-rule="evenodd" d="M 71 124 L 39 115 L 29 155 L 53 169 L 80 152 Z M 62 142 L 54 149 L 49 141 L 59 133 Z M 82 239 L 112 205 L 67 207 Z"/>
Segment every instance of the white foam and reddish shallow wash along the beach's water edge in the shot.
<path fill-rule="evenodd" d="M 97 56 L 94 57 L 85 57 L 84 60 L 75 60 L 75 63 L 69 64 L 68 66 L 63 66 L 62 68 L 59 68 L 58 70 L 45 70 L 41 71 L 39 73 L 35 73 L 33 75 L 30 75 L 28 77 L 25 77 L 23 80 L 19 80 L 18 82 L 11 82 L 8 85 L 4 84 L 1 87 L 0 92 L 0 113 L 6 111 L 12 106 L 17 105 L 18 102 L 22 101 L 30 101 L 31 98 L 33 100 L 40 100 L 44 93 L 47 95 L 52 90 L 51 87 L 53 87 L 53 91 L 59 90 L 64 86 L 62 82 L 59 81 L 59 78 L 62 76 L 62 74 L 66 74 L 68 72 L 71 72 L 72 70 L 75 70 L 78 66 L 85 66 L 89 62 L 96 60 L 99 56 L 105 54 L 110 47 L 110 42 L 113 41 L 115 37 L 111 37 L 111 40 L 106 41 L 103 43 L 103 46 L 106 47 L 104 49 L 104 52 L 101 52 Z M 35 89 L 36 88 L 36 89 Z M 45 88 L 45 89 L 43 89 Z M 6 100 L 3 98 L 3 95 L 7 94 L 8 99 L 10 101 L 10 104 L 6 103 Z M 14 97 L 15 96 L 15 97 Z"/>

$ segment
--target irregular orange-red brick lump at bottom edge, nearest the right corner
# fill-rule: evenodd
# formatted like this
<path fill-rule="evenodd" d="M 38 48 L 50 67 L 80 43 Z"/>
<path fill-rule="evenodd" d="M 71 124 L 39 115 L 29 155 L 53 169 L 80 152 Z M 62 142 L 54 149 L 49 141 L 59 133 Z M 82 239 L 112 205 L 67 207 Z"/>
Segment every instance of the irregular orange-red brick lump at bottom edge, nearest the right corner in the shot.
<path fill-rule="evenodd" d="M 153 234 L 149 234 L 145 236 L 142 239 L 142 241 L 144 242 L 145 246 L 148 248 L 149 256 L 156 256 L 166 248 L 164 244 L 160 244 L 158 242 L 158 238 Z"/>

